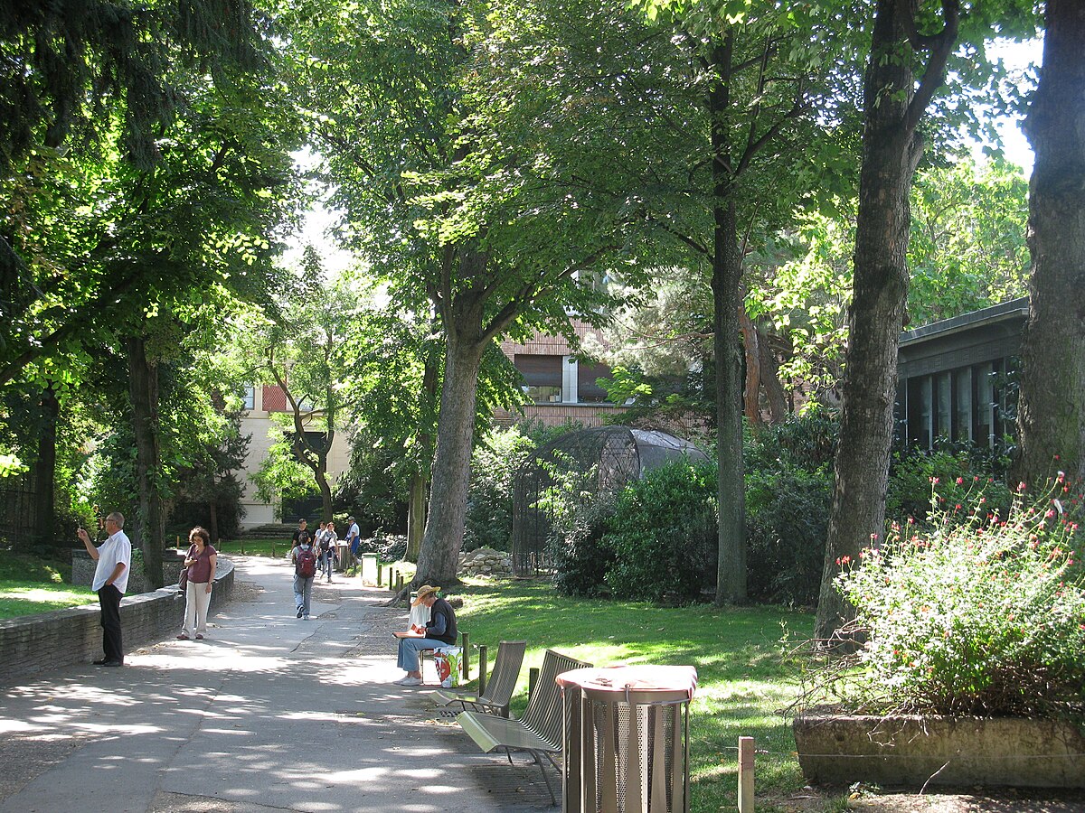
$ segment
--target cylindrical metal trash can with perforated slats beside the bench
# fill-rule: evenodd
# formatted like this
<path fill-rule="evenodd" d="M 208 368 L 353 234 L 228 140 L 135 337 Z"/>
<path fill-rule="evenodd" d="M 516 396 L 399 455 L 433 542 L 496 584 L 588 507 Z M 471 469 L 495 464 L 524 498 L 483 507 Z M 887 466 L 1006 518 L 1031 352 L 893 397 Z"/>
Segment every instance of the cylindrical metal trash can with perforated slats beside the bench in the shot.
<path fill-rule="evenodd" d="M 575 669 L 558 675 L 558 683 L 565 721 L 563 813 L 688 813 L 697 670 Z"/>

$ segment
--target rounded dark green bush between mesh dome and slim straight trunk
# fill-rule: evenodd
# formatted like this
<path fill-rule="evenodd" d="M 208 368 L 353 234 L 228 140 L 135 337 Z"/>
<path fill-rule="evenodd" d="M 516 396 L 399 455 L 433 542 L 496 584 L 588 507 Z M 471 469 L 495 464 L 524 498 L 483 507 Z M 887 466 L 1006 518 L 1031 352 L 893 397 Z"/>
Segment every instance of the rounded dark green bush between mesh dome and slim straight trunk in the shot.
<path fill-rule="evenodd" d="M 622 598 L 686 603 L 715 583 L 716 468 L 681 461 L 652 469 L 614 504 L 602 544 L 607 585 Z"/>

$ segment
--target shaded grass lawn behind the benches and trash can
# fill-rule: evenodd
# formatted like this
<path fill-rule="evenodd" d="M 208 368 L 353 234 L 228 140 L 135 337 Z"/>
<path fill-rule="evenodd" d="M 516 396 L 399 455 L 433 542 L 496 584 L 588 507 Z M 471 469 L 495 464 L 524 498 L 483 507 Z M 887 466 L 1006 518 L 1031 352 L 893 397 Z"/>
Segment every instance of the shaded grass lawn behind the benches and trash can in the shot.
<path fill-rule="evenodd" d="M 460 624 L 473 645 L 487 645 L 490 667 L 501 638 L 528 642 L 514 712 L 526 706 L 528 667 L 540 666 L 547 648 L 596 666 L 693 666 L 699 675 L 691 706 L 693 811 L 737 805 L 740 736 L 754 737 L 757 749 L 768 751 L 756 759 L 758 811 L 784 810 L 787 796 L 802 788 L 791 726 L 781 714 L 799 689 L 791 668 L 780 661 L 779 641 L 783 624 L 812 629 L 809 614 L 567 598 L 542 581 L 472 580 L 457 593 L 464 598 Z"/>

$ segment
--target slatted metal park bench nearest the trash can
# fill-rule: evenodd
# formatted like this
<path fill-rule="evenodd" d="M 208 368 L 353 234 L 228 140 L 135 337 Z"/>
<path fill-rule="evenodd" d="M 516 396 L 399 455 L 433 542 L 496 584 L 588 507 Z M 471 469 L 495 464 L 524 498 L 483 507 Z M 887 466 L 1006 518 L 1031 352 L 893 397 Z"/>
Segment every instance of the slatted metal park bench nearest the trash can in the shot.
<path fill-rule="evenodd" d="M 513 751 L 526 751 L 542 772 L 542 782 L 550 792 L 550 801 L 558 803 L 558 798 L 550 786 L 550 779 L 546 775 L 546 766 L 542 764 L 545 757 L 554 769 L 558 763 L 553 761 L 554 753 L 562 750 L 562 722 L 563 704 L 561 689 L 558 686 L 557 678 L 562 672 L 573 669 L 585 669 L 590 663 L 570 658 L 567 655 L 547 649 L 542 658 L 542 671 L 539 673 L 538 683 L 527 700 L 527 709 L 524 715 L 518 719 L 497 717 L 496 714 L 484 714 L 478 711 L 464 711 L 456 718 L 456 722 L 465 731 L 471 739 L 475 741 L 484 753 L 490 753 L 497 749 L 505 751 L 512 764 Z"/>

